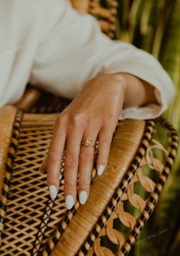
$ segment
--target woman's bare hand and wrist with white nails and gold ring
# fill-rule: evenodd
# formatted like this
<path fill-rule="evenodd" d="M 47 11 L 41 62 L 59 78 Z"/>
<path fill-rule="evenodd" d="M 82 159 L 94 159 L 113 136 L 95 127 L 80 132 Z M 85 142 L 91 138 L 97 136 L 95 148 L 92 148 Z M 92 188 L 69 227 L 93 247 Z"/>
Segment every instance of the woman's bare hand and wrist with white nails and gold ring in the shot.
<path fill-rule="evenodd" d="M 133 95 L 131 93 L 131 96 L 127 96 L 126 91 L 129 93 L 132 85 Z M 148 85 L 148 88 L 151 86 Z M 136 94 L 139 99 L 133 100 Z M 148 99 L 145 83 L 133 75 L 99 75 L 83 85 L 80 94 L 58 115 L 47 158 L 41 165 L 41 170 L 47 171 L 47 185 L 52 200 L 56 198 L 59 190 L 61 160 L 66 149 L 64 194 L 67 208 L 72 208 L 77 200 L 78 173 L 79 200 L 80 204 L 85 204 L 90 191 L 95 148 L 81 145 L 82 141 L 91 138 L 93 145 L 99 141 L 97 174 L 102 175 L 123 105 L 133 106 L 134 101 L 135 105 L 141 105 L 144 101 L 149 101 Z"/>

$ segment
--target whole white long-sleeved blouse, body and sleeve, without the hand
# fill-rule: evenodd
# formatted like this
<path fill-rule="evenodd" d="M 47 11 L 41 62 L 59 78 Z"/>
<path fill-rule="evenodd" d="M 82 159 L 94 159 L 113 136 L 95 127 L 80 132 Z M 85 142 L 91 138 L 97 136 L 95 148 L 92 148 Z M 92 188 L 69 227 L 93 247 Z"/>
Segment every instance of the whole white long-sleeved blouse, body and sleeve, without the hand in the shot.
<path fill-rule="evenodd" d="M 21 98 L 28 82 L 74 98 L 100 73 L 126 72 L 155 87 L 160 105 L 126 108 L 119 118 L 155 118 L 174 96 L 171 78 L 147 52 L 113 42 L 91 15 L 68 0 L 0 0 L 0 107 Z"/>

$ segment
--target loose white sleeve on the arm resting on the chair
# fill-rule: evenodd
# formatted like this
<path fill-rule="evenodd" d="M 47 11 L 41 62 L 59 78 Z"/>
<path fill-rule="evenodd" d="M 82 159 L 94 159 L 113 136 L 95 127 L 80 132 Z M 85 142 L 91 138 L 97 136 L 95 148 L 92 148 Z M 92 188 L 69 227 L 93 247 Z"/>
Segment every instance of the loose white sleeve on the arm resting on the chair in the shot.
<path fill-rule="evenodd" d="M 80 15 L 66 0 L 56 5 L 54 23 L 39 45 L 31 83 L 47 91 L 74 98 L 85 81 L 100 73 L 126 72 L 136 75 L 159 91 L 159 105 L 126 108 L 119 118 L 155 118 L 174 95 L 172 80 L 148 53 L 124 42 L 113 42 L 100 31 L 91 15 Z M 60 5 L 59 15 L 57 5 Z M 51 7 L 52 4 L 51 4 Z M 46 18 L 46 21 L 48 19 Z"/>

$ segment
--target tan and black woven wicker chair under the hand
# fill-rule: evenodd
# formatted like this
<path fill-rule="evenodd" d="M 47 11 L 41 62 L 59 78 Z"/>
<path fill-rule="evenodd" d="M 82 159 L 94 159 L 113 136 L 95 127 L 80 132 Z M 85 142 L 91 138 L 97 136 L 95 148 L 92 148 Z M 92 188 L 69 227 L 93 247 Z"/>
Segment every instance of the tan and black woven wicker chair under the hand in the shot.
<path fill-rule="evenodd" d="M 113 37 L 116 1 L 106 1 L 111 12 L 99 1 L 72 2 L 80 12 L 99 15 L 103 31 Z M 99 177 L 93 168 L 87 203 L 77 201 L 71 210 L 64 203 L 63 159 L 60 190 L 51 201 L 46 175 L 38 169 L 57 113 L 68 102 L 28 88 L 16 106 L 0 110 L 2 256 L 127 255 L 159 200 L 178 148 L 175 129 L 162 118 L 117 124 L 106 171 Z M 155 140 L 156 125 L 168 131 L 166 148 Z"/>

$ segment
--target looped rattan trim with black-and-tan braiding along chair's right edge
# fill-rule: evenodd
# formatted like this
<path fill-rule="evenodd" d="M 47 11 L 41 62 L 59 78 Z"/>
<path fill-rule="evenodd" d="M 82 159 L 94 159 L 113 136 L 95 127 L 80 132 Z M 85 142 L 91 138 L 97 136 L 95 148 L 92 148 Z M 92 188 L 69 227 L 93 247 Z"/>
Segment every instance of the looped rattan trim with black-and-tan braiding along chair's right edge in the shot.
<path fill-rule="evenodd" d="M 110 215 L 108 221 L 106 221 L 104 228 L 101 229 L 98 238 L 93 242 L 92 247 L 88 250 L 88 256 L 113 256 L 116 254 L 116 251 L 118 251 L 118 248 L 119 255 L 127 255 L 135 241 L 138 242 L 137 238 L 155 208 L 155 204 L 159 199 L 159 193 L 162 190 L 162 186 L 164 185 L 166 178 L 168 177 L 170 171 L 169 168 L 171 168 L 173 164 L 178 148 L 178 135 L 175 132 L 175 129 L 168 121 L 165 121 L 162 118 L 159 118 L 155 122 L 158 122 L 159 120 L 162 121 L 165 128 L 170 129 L 169 138 L 171 138 L 171 142 L 169 144 L 169 151 L 163 148 L 158 141 L 155 141 L 154 139 L 150 141 L 150 145 L 146 148 L 146 155 L 143 156 L 140 166 L 136 170 L 136 174 L 127 186 L 125 193 L 121 196 L 120 201 L 116 204 L 116 208 Z M 165 159 L 165 161 L 162 161 L 164 161 L 164 164 L 162 164 L 159 158 L 155 158 L 152 153 L 152 149 L 159 149 L 163 151 L 164 158 L 162 159 Z M 153 180 L 155 179 L 155 181 L 146 176 L 148 175 L 147 172 L 143 174 L 142 171 L 147 171 L 147 167 L 149 167 L 149 175 Z M 154 172 L 153 175 L 152 172 Z M 140 196 L 139 194 L 136 194 L 137 191 L 133 191 L 135 184 L 139 185 L 139 189 L 141 191 Z M 145 195 L 146 200 L 144 198 Z M 127 206 L 126 201 L 129 201 L 129 203 L 132 204 L 132 207 L 128 207 L 125 210 L 124 205 Z M 135 209 L 139 209 L 138 215 Z M 119 228 L 114 227 L 114 223 L 117 223 L 118 220 L 121 222 Z M 129 235 L 127 235 L 127 228 L 129 229 Z M 113 248 L 112 245 L 111 247 L 107 247 L 107 244 L 106 247 L 103 246 L 102 241 L 105 237 L 109 242 L 113 242 Z"/>

